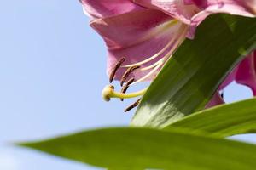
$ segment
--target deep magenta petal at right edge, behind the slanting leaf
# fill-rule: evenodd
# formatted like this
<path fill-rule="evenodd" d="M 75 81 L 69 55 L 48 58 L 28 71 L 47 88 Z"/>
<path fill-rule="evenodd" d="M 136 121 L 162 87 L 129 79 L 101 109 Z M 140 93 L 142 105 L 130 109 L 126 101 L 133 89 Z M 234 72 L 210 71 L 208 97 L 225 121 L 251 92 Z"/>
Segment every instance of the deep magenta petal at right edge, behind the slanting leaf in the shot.
<path fill-rule="evenodd" d="M 248 86 L 252 89 L 253 95 L 256 95 L 256 51 L 238 65 L 236 82 Z"/>

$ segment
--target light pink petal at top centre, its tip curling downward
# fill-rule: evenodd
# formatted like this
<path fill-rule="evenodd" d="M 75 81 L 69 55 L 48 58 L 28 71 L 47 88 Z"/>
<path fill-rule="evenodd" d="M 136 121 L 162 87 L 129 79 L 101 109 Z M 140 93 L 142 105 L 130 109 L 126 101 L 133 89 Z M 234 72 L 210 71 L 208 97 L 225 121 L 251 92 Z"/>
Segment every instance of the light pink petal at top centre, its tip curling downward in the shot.
<path fill-rule="evenodd" d="M 134 2 L 143 7 L 161 10 L 184 24 L 189 24 L 192 16 L 200 11 L 194 3 L 188 0 L 134 0 Z"/>

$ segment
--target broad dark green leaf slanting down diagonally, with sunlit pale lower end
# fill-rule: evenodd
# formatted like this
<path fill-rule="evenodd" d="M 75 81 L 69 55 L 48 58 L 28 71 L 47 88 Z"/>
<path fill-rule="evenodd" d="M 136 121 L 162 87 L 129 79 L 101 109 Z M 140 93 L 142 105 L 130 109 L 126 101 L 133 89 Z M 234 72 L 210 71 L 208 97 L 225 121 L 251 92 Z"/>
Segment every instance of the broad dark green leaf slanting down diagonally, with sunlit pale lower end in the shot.
<path fill-rule="evenodd" d="M 256 47 L 256 18 L 215 14 L 187 39 L 143 96 L 131 125 L 165 127 L 211 99 L 228 72 Z"/>

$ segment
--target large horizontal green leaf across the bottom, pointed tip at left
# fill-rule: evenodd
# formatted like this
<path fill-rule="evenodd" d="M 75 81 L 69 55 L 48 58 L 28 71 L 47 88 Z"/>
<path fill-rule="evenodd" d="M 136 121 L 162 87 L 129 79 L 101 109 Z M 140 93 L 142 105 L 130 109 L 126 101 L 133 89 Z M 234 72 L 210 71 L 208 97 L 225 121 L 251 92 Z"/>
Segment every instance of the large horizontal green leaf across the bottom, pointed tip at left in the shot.
<path fill-rule="evenodd" d="M 253 170 L 256 145 L 149 128 L 107 128 L 21 144 L 113 169 Z"/>

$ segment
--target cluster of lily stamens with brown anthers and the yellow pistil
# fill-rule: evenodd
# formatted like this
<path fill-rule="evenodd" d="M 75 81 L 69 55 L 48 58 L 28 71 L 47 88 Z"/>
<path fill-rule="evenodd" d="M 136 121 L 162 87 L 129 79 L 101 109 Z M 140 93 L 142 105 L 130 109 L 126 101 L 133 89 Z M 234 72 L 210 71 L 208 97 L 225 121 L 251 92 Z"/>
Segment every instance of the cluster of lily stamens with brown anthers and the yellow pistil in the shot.
<path fill-rule="evenodd" d="M 109 77 L 109 82 L 113 82 L 113 78 L 116 74 L 116 71 L 119 69 L 119 67 L 128 67 L 129 66 L 129 68 L 125 71 L 124 75 L 122 76 L 122 78 L 120 80 L 120 85 L 123 88 L 121 89 L 121 91 L 119 93 L 119 92 L 114 91 L 113 86 L 108 85 L 105 88 L 103 88 L 103 90 L 102 90 L 102 98 L 105 99 L 106 101 L 109 101 L 111 98 L 119 98 L 119 99 L 123 100 L 123 99 L 135 98 L 135 97 L 142 96 L 143 94 L 145 94 L 146 91 L 148 90 L 148 88 L 144 88 L 143 90 L 135 92 L 135 93 L 130 93 L 130 94 L 125 94 L 125 93 L 131 85 L 133 85 L 137 82 L 143 82 L 146 79 L 148 79 L 148 77 L 156 76 L 158 74 L 160 68 L 166 63 L 166 60 L 169 59 L 170 57 L 172 57 L 172 54 L 174 53 L 174 51 L 181 44 L 181 42 L 183 42 L 183 40 L 186 38 L 187 29 L 188 29 L 188 26 L 181 25 L 179 27 L 179 31 L 177 31 L 177 34 L 175 34 L 175 36 L 172 37 L 171 41 L 168 42 L 166 47 L 163 48 L 162 50 L 160 50 L 159 53 L 154 54 L 154 56 L 150 57 L 149 59 L 145 59 L 144 61 L 133 64 L 133 65 L 124 65 L 124 66 L 121 66 L 121 65 L 125 62 L 125 58 L 119 59 L 117 64 L 114 65 L 113 71 L 111 71 L 111 74 Z M 166 49 L 168 49 L 167 52 L 166 52 Z M 148 74 L 146 74 L 144 77 L 141 77 L 136 82 L 134 82 L 135 81 L 134 77 L 132 77 L 128 82 L 126 82 L 126 79 L 131 75 L 131 73 L 133 71 L 140 68 L 141 65 L 143 65 L 144 63 L 147 63 L 148 61 L 160 56 L 163 53 L 165 53 L 165 56 L 161 57 L 161 59 L 159 59 L 157 62 L 155 62 L 152 65 L 142 67 L 140 69 L 140 71 L 147 71 L 147 70 L 151 69 L 151 71 L 149 71 Z M 126 82 L 125 86 L 123 86 L 124 82 Z M 126 108 L 125 112 L 130 111 L 131 109 L 136 107 L 139 104 L 140 100 L 141 99 L 138 99 L 134 104 L 132 104 L 128 108 Z"/>

